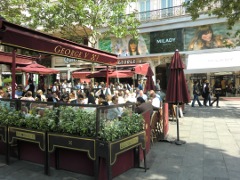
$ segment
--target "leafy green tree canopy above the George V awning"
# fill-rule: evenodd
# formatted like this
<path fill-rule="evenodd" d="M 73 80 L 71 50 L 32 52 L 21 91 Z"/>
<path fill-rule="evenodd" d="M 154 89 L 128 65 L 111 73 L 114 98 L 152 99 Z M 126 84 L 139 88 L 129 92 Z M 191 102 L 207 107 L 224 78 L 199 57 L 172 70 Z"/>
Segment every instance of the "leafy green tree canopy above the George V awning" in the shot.
<path fill-rule="evenodd" d="M 95 47 L 98 38 L 138 37 L 135 13 L 125 15 L 134 0 L 2 0 L 1 15 L 16 24 Z"/>

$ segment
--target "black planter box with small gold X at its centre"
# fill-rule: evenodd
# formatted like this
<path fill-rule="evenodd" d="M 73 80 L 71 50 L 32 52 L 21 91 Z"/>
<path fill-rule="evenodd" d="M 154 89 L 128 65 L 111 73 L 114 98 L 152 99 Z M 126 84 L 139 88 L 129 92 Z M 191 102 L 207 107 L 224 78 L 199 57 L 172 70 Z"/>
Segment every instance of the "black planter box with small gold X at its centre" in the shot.
<path fill-rule="evenodd" d="M 55 166 L 90 176 L 96 175 L 96 140 L 48 133 L 48 153 L 55 152 Z M 49 166 L 48 166 L 49 167 Z"/>

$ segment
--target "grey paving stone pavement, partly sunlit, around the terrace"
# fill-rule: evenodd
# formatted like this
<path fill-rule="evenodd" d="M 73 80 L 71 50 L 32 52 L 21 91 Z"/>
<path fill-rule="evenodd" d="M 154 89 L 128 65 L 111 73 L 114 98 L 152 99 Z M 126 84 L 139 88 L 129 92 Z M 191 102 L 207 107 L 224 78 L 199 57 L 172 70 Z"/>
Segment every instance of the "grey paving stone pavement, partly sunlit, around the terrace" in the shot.
<path fill-rule="evenodd" d="M 147 155 L 147 172 L 130 169 L 114 180 L 239 180 L 240 179 L 240 101 L 221 101 L 221 108 L 185 106 L 179 118 L 180 140 L 176 145 L 177 126 L 169 122 L 168 142 L 155 142 Z M 93 177 L 12 160 L 5 165 L 0 155 L 0 180 L 91 180 Z"/>

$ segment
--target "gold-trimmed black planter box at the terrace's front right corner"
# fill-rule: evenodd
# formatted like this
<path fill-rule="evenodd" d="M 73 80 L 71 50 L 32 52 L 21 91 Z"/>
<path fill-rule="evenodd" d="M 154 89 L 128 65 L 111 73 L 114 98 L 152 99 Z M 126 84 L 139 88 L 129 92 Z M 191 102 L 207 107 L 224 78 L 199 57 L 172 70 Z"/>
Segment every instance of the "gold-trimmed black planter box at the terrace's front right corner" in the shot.
<path fill-rule="evenodd" d="M 97 144 L 96 144 L 97 145 L 96 165 L 98 166 L 97 174 L 99 174 L 99 172 L 103 173 L 103 174 L 99 174 L 98 178 L 112 179 L 113 176 L 119 175 L 132 167 L 140 167 L 139 166 L 139 163 L 140 163 L 139 147 L 141 147 L 141 149 L 143 149 L 143 152 L 144 152 L 144 168 L 146 171 L 145 137 L 146 137 L 146 133 L 145 131 L 142 131 L 140 133 L 134 134 L 132 136 L 129 136 L 114 142 L 104 142 L 104 141 L 97 140 Z M 136 153 L 136 148 L 138 149 L 137 153 Z M 131 153 L 132 154 L 135 153 L 135 154 L 132 155 Z M 118 169 L 118 173 L 114 173 L 112 172 L 112 167 L 115 165 L 119 157 L 124 159 L 124 161 L 119 161 L 117 168 L 115 167 L 115 169 Z M 99 161 L 101 163 L 99 163 Z M 100 167 L 99 167 L 99 164 L 100 164 Z M 124 165 L 130 165 L 130 166 L 128 166 L 127 168 L 124 168 Z"/>

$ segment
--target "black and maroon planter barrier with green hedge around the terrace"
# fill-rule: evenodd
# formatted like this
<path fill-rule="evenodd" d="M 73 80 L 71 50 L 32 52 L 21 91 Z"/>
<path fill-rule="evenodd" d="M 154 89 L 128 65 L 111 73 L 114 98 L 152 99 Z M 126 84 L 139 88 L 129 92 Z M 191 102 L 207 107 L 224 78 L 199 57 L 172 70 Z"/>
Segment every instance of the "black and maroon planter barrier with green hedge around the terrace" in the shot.
<path fill-rule="evenodd" d="M 147 141 L 145 139 L 150 129 L 143 129 L 147 127 L 143 124 L 150 122 L 150 113 L 146 112 L 143 116 L 135 114 L 134 104 L 97 106 L 31 102 L 27 112 L 25 101 L 1 99 L 0 102 L 0 144 L 1 149 L 5 149 L 1 153 L 5 154 L 9 165 L 11 156 L 17 155 L 18 159 L 43 164 L 44 172 L 48 175 L 51 175 L 49 168 L 55 167 L 99 179 L 112 179 L 129 168 L 139 167 L 140 161 L 146 162 L 150 138 Z M 126 111 L 121 121 L 118 118 L 111 121 L 103 118 L 108 116 L 106 112 L 120 107 Z M 41 110 L 38 111 L 39 108 Z M 89 111 L 89 108 L 94 111 Z M 7 118 L 10 115 L 11 119 Z M 68 125 L 71 122 L 76 127 Z M 128 123 L 128 126 L 124 123 Z M 12 145 L 17 148 L 17 154 L 12 153 Z M 136 148 L 140 151 L 136 151 Z M 136 152 L 139 153 L 137 159 L 134 155 Z M 128 160 L 119 161 L 124 156 Z M 68 162 L 64 160 L 67 157 L 84 158 L 85 161 L 81 165 L 83 161 L 79 159 L 71 161 L 69 165 L 69 159 Z M 121 170 L 122 163 L 129 164 L 128 168 Z M 86 169 L 86 164 L 89 164 L 89 169 Z M 113 166 L 118 166 L 117 172 L 111 170 Z M 147 170 L 146 163 L 144 169 Z"/>

